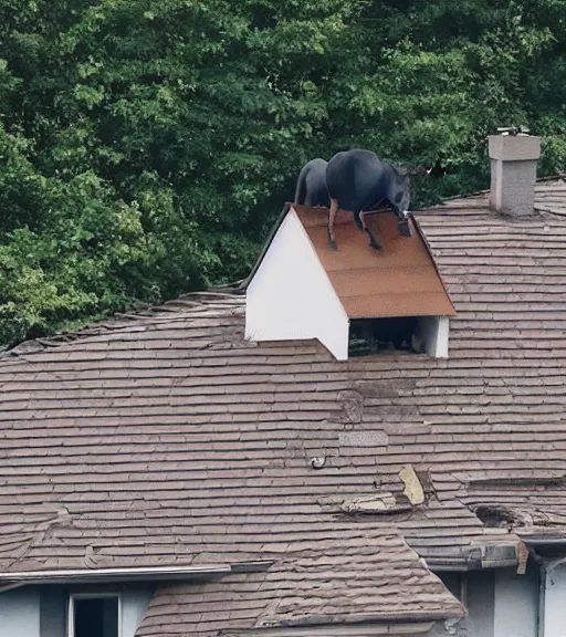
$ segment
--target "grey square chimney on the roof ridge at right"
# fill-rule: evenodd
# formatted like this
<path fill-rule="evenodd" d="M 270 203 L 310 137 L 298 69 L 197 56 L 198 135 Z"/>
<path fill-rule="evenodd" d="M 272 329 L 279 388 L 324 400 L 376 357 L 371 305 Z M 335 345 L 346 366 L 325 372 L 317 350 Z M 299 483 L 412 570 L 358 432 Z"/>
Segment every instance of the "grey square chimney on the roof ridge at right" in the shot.
<path fill-rule="evenodd" d="M 520 133 L 490 135 L 489 140 L 490 206 L 513 217 L 533 215 L 541 138 Z"/>

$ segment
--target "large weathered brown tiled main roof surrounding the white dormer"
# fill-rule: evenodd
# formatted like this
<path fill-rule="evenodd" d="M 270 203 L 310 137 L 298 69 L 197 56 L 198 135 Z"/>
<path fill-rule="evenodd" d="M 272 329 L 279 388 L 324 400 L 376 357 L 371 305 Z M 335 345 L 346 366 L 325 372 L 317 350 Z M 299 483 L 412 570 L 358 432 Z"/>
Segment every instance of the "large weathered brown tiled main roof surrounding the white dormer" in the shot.
<path fill-rule="evenodd" d="M 562 197 L 552 184 L 546 201 Z M 429 575 L 385 535 L 458 568 L 516 534 L 566 537 L 566 219 L 496 216 L 479 195 L 417 222 L 458 312 L 449 359 L 245 342 L 244 299 L 228 291 L 1 358 L 0 571 L 281 565 L 347 535 L 354 551 L 373 537 L 397 585 Z M 403 494 L 406 466 L 422 504 Z M 298 586 L 297 617 L 318 613 L 316 586 Z M 175 613 L 171 595 L 148 617 Z M 378 612 L 360 598 L 346 615 Z M 411 612 L 454 613 L 443 594 L 427 604 Z M 177 618 L 178 633 L 192 620 Z"/>

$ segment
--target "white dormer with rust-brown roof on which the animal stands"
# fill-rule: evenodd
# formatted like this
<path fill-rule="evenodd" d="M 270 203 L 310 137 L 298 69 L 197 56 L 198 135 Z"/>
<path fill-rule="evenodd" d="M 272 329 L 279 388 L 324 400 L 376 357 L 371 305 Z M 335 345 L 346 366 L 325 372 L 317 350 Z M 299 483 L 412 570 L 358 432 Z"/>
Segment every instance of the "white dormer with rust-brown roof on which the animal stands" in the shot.
<path fill-rule="evenodd" d="M 411 218 L 411 237 L 402 237 L 392 212 L 367 216 L 381 243 L 376 251 L 353 215 L 340 210 L 338 249 L 332 250 L 327 219 L 325 208 L 285 206 L 247 282 L 245 337 L 317 338 L 345 361 L 357 331 L 399 327 L 407 330 L 399 338 L 412 340 L 413 348 L 448 357 L 455 311 L 417 222 Z"/>

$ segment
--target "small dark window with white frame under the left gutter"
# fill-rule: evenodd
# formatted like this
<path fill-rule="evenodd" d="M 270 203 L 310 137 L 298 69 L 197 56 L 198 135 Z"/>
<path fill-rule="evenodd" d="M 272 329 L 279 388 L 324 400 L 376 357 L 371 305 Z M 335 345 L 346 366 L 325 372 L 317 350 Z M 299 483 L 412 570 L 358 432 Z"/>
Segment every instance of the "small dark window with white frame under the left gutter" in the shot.
<path fill-rule="evenodd" d="M 71 595 L 67 637 L 120 637 L 120 615 L 117 593 Z"/>

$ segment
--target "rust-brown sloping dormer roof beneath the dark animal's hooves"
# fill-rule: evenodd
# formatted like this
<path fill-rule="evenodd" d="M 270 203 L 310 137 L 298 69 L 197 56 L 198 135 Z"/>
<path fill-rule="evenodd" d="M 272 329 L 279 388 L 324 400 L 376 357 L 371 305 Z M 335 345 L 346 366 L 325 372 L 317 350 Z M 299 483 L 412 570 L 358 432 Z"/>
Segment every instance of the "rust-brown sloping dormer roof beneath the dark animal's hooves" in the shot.
<path fill-rule="evenodd" d="M 368 246 L 367 236 L 359 231 L 354 216 L 340 210 L 335 221 L 338 249 L 332 250 L 326 208 L 286 205 L 275 229 L 291 210 L 297 213 L 349 318 L 455 314 L 413 220 L 409 220 L 411 237 L 401 237 L 394 212 L 381 210 L 368 215 L 367 226 L 381 243 L 381 249 L 376 251 Z M 266 250 L 259 263 L 265 253 Z"/>

